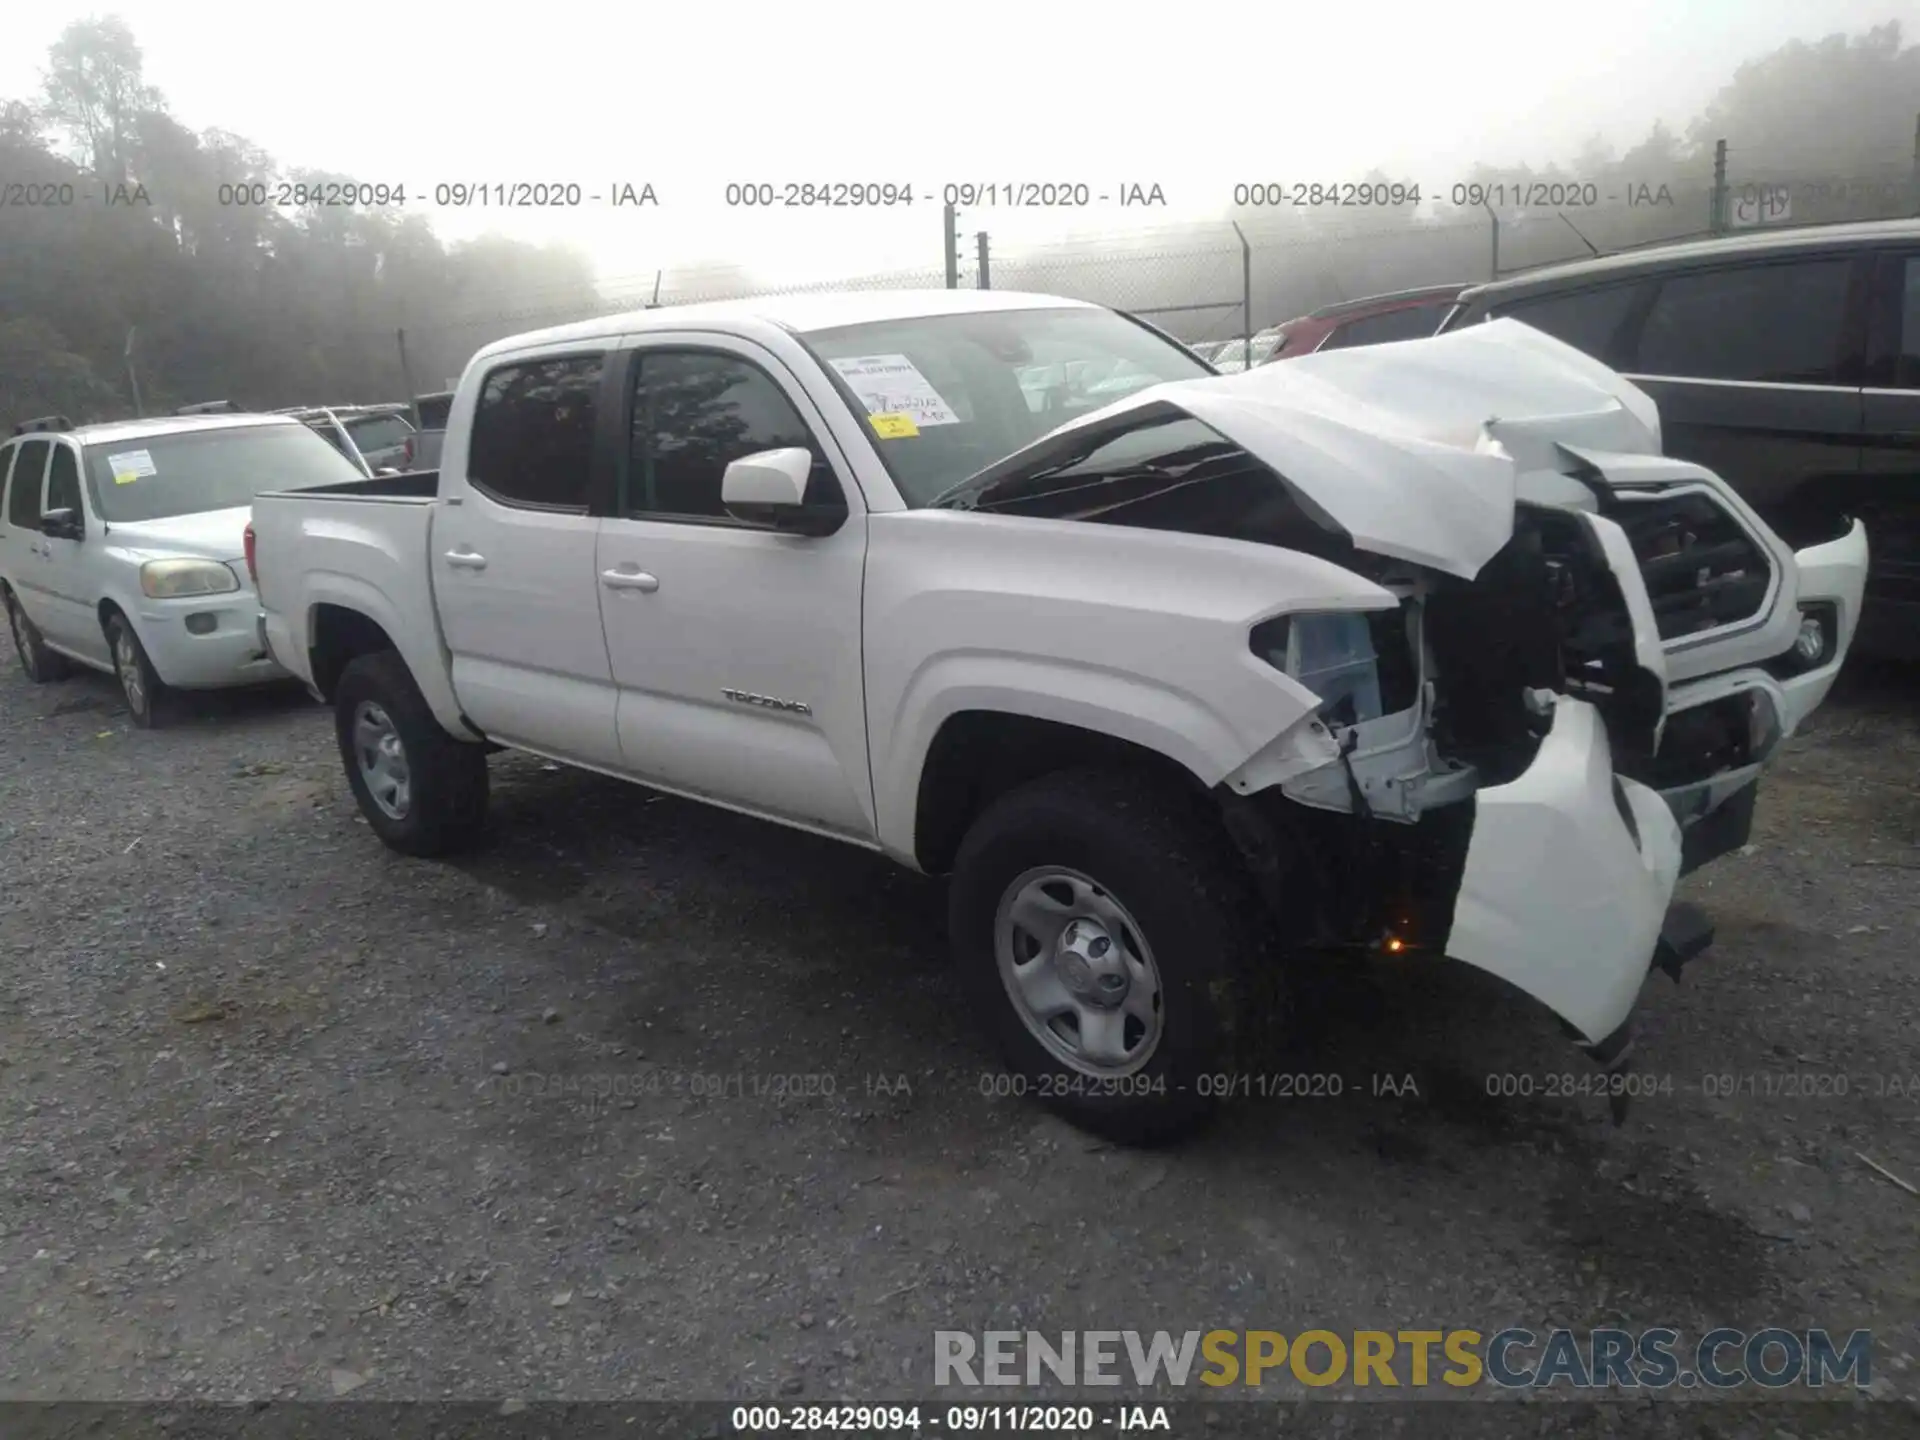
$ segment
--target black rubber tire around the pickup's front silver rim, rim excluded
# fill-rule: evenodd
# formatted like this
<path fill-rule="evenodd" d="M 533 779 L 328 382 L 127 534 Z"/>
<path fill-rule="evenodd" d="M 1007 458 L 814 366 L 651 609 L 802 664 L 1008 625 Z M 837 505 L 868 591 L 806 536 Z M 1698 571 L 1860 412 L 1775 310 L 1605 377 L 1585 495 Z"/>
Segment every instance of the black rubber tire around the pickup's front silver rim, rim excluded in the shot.
<path fill-rule="evenodd" d="M 1077 872 L 1096 897 L 1104 891 L 1117 902 L 1160 973 L 1160 1002 L 1148 1006 L 1160 1016 L 1160 1037 L 1129 1075 L 1089 1075 L 1050 1050 L 1002 979 L 995 935 L 1002 899 L 1039 883 L 1031 876 L 1048 866 Z M 954 860 L 948 935 L 1014 1092 L 1123 1144 L 1175 1140 L 1212 1117 L 1219 1089 L 1212 1079 L 1233 1064 L 1236 1031 L 1248 1020 L 1246 975 L 1277 960 L 1246 870 L 1204 797 L 1154 776 L 1104 770 L 1044 776 L 975 820 Z M 1085 983 L 1085 972 L 1075 983 Z M 1079 1037 L 1077 1021 L 1060 1023 Z M 1060 1023 L 1044 1027 L 1058 1037 Z M 1133 1033 L 1144 1021 L 1121 1023 Z"/>

